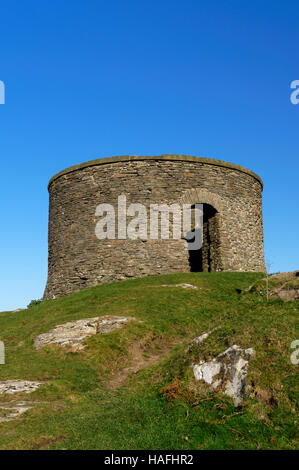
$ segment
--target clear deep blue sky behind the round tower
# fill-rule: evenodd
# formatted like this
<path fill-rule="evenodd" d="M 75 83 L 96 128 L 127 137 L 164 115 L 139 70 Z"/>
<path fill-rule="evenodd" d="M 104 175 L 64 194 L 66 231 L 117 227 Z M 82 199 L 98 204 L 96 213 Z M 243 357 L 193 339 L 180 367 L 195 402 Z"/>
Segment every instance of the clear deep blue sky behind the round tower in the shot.
<path fill-rule="evenodd" d="M 43 294 L 50 177 L 113 155 L 255 171 L 271 271 L 299 268 L 297 0 L 10 0 L 0 17 L 0 310 Z"/>

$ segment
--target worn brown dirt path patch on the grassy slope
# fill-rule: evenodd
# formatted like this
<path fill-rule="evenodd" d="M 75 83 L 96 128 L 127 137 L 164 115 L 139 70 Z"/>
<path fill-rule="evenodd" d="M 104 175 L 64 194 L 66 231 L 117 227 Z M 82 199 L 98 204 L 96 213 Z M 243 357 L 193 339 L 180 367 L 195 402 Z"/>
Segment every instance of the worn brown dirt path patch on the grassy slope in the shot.
<path fill-rule="evenodd" d="M 179 338 L 169 345 L 161 347 L 159 351 L 146 351 L 146 357 L 144 356 L 145 350 L 140 343 L 134 343 L 129 350 L 129 357 L 131 357 L 129 364 L 118 370 L 106 383 L 106 387 L 113 390 L 121 387 L 129 375 L 136 374 L 139 370 L 162 361 L 173 348 L 184 341 L 186 341 L 186 338 Z"/>

